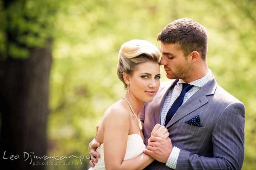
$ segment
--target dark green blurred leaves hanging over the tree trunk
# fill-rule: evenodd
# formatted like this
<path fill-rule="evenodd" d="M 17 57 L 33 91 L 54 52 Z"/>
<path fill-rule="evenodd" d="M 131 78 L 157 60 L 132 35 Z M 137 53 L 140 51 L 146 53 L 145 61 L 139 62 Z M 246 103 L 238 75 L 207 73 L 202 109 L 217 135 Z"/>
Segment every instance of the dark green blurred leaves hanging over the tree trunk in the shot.
<path fill-rule="evenodd" d="M 1 60 L 26 59 L 31 47 L 43 47 L 53 36 L 57 9 L 51 0 L 1 0 L 0 10 Z"/>

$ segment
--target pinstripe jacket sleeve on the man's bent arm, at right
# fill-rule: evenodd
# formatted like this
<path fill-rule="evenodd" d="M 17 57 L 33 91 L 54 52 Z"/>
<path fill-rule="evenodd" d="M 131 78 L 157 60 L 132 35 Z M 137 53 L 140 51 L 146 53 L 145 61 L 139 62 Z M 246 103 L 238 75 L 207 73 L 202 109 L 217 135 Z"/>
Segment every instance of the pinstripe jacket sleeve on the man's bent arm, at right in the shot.
<path fill-rule="evenodd" d="M 241 169 L 244 160 L 245 107 L 230 103 L 220 114 L 212 132 L 213 158 L 182 150 L 177 169 Z"/>

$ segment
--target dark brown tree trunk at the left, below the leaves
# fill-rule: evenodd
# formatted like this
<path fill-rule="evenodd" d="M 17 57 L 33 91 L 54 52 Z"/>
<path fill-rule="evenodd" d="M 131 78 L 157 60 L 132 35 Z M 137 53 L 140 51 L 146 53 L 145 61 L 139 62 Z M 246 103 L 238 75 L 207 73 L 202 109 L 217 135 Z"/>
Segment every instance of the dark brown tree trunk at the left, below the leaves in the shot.
<path fill-rule="evenodd" d="M 46 155 L 47 149 L 51 45 L 48 40 L 44 48 L 31 48 L 27 60 L 0 61 L 0 166 L 26 170 L 46 166 L 43 158 L 35 157 Z"/>

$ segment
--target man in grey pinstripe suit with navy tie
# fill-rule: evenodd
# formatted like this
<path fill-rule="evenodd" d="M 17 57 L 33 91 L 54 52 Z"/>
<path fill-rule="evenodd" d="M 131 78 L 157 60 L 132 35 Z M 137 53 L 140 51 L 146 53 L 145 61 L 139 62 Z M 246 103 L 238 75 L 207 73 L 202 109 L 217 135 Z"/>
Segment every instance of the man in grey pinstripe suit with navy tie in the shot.
<path fill-rule="evenodd" d="M 140 115 L 144 152 L 156 159 L 145 169 L 241 169 L 245 108 L 208 69 L 206 28 L 182 18 L 162 29 L 158 40 L 160 63 L 167 78 L 174 80 L 161 83 Z M 168 129 L 166 140 L 150 137 L 157 123 Z"/>

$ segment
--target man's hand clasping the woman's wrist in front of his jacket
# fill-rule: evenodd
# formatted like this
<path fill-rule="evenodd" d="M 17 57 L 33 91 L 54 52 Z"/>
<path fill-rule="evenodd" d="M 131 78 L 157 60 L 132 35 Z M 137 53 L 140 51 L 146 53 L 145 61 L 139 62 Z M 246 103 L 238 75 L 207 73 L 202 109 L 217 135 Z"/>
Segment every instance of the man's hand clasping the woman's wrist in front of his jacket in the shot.
<path fill-rule="evenodd" d="M 162 139 L 160 137 L 151 136 L 144 153 L 150 155 L 159 162 L 166 163 L 172 148 L 171 139 L 169 137 L 167 139 Z"/>

